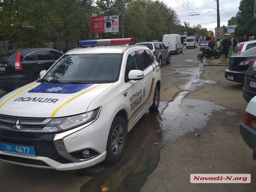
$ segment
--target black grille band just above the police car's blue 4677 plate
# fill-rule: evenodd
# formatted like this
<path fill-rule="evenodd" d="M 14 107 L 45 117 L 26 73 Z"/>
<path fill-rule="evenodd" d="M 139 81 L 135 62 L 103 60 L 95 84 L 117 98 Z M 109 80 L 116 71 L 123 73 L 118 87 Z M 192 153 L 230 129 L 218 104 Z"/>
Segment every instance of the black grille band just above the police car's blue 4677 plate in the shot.
<path fill-rule="evenodd" d="M 22 131 L 0 129 L 0 135 L 4 137 L 17 138 L 17 139 L 39 139 L 43 135 L 43 133 L 22 132 Z"/>

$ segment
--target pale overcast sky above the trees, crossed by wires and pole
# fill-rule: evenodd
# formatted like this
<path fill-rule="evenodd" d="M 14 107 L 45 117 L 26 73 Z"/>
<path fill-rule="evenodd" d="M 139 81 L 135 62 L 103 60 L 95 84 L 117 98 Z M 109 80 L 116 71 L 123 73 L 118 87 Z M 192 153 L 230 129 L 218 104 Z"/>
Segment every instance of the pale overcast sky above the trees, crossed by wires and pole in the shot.
<path fill-rule="evenodd" d="M 214 0 L 163 0 L 163 1 L 178 13 L 178 16 L 180 18 L 180 22 L 182 25 L 184 25 L 183 21 L 187 21 L 187 22 L 190 21 L 191 26 L 201 24 L 203 27 L 206 27 L 208 30 L 214 31 L 213 28 L 217 27 L 217 20 L 216 20 L 217 11 L 214 11 L 215 9 L 217 9 L 217 3 Z M 219 0 L 219 1 L 220 1 L 220 10 L 225 8 L 222 11 L 220 11 L 220 26 L 223 26 L 223 25 L 227 26 L 228 20 L 232 16 L 235 16 L 236 13 L 238 12 L 240 0 Z M 182 3 L 184 8 L 186 8 L 189 12 L 182 7 Z M 184 5 L 185 3 L 186 5 Z M 213 11 L 213 12 L 207 13 L 209 11 Z M 191 14 L 191 12 L 196 12 L 196 14 L 200 13 L 200 15 L 188 16 L 189 13 Z"/>

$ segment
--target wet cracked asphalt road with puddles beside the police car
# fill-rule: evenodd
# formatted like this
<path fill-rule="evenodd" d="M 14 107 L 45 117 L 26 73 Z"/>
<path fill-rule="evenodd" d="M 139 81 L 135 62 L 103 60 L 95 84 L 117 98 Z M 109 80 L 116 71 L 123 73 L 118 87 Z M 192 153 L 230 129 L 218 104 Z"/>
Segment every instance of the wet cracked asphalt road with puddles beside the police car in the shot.
<path fill-rule="evenodd" d="M 198 61 L 198 53 L 183 49 L 162 66 L 159 112 L 145 114 L 129 132 L 121 161 L 77 171 L 0 162 L 0 191 L 255 191 L 256 162 L 239 133 L 247 106 L 242 84 L 224 78 L 223 59 Z M 250 173 L 252 181 L 191 184 L 191 173 Z"/>

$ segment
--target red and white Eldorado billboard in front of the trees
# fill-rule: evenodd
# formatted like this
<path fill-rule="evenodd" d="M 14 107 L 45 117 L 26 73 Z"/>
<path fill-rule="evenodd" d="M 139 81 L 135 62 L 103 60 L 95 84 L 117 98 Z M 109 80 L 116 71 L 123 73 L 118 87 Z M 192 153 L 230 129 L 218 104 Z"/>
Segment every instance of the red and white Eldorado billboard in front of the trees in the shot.
<path fill-rule="evenodd" d="M 92 33 L 119 32 L 118 15 L 91 17 Z"/>

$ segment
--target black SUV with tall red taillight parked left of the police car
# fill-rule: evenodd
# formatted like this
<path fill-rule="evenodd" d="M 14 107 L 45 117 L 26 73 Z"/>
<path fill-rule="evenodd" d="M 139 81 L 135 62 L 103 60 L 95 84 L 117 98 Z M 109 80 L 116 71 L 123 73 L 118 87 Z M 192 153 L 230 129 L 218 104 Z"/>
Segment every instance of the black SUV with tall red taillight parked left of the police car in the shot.
<path fill-rule="evenodd" d="M 63 53 L 48 48 L 20 49 L 0 52 L 0 88 L 10 92 L 39 79 Z"/>

